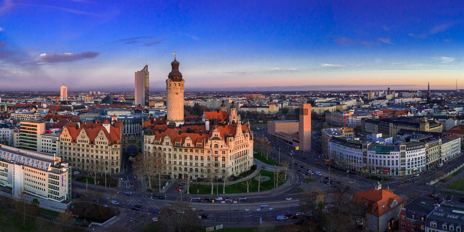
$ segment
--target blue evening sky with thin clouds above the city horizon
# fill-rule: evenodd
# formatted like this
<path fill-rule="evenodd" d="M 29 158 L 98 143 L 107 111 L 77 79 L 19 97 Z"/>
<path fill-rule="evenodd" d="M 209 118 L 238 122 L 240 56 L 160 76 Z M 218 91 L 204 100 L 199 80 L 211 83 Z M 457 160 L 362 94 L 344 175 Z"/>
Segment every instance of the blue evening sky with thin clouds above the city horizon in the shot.
<path fill-rule="evenodd" d="M 3 0 L 0 90 L 462 84 L 462 2 L 348 2 Z"/>

